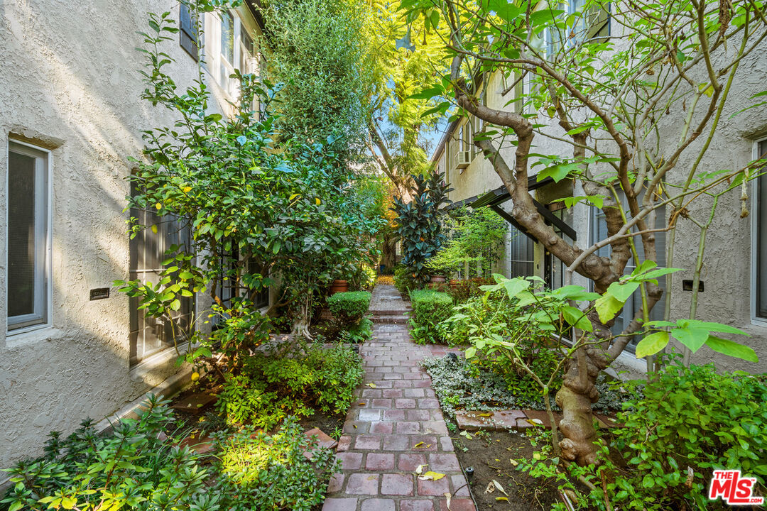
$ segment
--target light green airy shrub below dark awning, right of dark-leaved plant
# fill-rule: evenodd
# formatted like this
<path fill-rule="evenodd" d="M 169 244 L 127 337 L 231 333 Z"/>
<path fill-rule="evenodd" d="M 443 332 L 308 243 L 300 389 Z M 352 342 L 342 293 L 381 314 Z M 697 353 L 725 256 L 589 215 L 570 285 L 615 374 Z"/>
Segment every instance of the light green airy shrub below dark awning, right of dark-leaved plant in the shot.
<path fill-rule="evenodd" d="M 449 239 L 426 267 L 447 277 L 490 277 L 493 264 L 502 254 L 506 222 L 490 208 L 450 211 L 443 229 Z"/>

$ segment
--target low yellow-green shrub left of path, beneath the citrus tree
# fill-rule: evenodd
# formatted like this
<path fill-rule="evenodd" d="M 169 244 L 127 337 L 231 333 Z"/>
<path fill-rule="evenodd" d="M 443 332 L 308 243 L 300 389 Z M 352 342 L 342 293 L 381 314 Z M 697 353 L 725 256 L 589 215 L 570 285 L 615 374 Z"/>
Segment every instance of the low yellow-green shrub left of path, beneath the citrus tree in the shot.
<path fill-rule="evenodd" d="M 229 424 L 269 429 L 288 415 L 311 415 L 314 407 L 346 411 L 362 374 L 362 359 L 350 346 L 298 343 L 279 356 L 250 357 L 241 374 L 226 378 L 216 406 Z"/>

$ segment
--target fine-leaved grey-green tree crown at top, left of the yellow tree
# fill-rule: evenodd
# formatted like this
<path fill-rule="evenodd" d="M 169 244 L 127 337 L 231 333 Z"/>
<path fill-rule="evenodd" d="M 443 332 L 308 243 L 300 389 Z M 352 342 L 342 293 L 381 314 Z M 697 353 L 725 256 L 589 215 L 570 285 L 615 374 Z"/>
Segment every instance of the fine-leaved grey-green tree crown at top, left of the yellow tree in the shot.
<path fill-rule="evenodd" d="M 275 112 L 284 138 L 332 136 L 361 148 L 370 117 L 369 11 L 356 0 L 276 0 L 262 9 L 268 75 L 283 84 Z"/>

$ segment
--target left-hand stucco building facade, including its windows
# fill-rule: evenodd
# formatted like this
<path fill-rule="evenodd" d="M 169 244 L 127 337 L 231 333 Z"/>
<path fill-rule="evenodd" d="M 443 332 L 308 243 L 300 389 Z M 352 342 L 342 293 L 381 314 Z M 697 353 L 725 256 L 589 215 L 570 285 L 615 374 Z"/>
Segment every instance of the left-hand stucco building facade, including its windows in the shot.
<path fill-rule="evenodd" d="M 261 62 L 248 2 L 204 15 L 204 34 L 173 0 L 0 3 L 0 467 L 41 453 L 48 431 L 68 434 L 168 378 L 188 381 L 165 326 L 113 286 L 151 280 L 163 247 L 183 238 L 127 235 L 128 157 L 141 155 L 141 130 L 173 123 L 140 100 L 137 31 L 150 11 L 179 22 L 163 47 L 176 84 L 192 84 L 200 65 L 226 113 L 237 94 L 229 74 Z M 208 304 L 196 296 L 186 312 Z"/>

